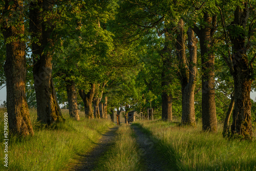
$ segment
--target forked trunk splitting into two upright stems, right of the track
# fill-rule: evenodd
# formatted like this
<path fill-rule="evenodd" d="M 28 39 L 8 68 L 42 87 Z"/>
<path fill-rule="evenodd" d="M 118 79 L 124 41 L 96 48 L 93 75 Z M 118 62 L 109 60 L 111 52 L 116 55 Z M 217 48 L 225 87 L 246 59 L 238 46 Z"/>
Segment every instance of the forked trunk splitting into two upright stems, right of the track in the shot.
<path fill-rule="evenodd" d="M 184 23 L 180 21 L 180 30 L 177 37 L 177 56 L 179 58 L 179 71 L 182 92 L 182 124 L 189 124 L 196 126 L 195 117 L 195 87 L 197 75 L 197 38 L 194 31 L 188 28 L 188 48 L 189 48 L 189 62 L 185 56 L 184 44 Z"/>

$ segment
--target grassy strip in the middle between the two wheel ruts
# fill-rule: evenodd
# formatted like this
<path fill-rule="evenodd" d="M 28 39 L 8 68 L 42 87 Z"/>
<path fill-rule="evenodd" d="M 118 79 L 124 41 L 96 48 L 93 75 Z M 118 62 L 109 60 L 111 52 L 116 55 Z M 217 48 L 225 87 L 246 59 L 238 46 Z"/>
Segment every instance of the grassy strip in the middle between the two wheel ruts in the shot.
<path fill-rule="evenodd" d="M 101 157 L 95 170 L 141 170 L 141 159 L 135 133 L 130 126 L 121 125 L 114 145 Z"/>

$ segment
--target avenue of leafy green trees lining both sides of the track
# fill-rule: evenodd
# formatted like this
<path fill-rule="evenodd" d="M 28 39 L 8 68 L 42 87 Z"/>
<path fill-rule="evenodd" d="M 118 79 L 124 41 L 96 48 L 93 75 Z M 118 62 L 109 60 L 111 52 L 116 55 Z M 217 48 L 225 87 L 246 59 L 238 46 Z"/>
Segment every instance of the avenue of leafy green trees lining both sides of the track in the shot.
<path fill-rule="evenodd" d="M 227 113 L 224 136 L 232 114 L 231 135 L 252 139 L 255 1 L 5 0 L 0 8 L 11 134 L 34 134 L 27 101 L 35 96 L 47 125 L 65 121 L 65 98 L 76 120 L 78 106 L 99 118 L 153 102 L 163 120 L 174 108 L 182 124 L 202 118 L 202 130 L 214 133 Z"/>

